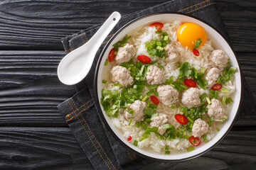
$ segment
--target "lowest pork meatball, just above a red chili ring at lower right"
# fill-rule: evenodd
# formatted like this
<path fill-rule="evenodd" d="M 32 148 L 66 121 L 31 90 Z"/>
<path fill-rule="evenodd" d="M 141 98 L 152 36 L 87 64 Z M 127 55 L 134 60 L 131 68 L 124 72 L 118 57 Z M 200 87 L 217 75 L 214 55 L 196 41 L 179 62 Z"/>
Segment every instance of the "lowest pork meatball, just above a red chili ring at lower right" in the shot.
<path fill-rule="evenodd" d="M 202 120 L 201 118 L 198 118 L 192 126 L 192 135 L 194 137 L 201 137 L 202 135 L 205 135 L 208 132 L 209 125 L 206 123 L 206 121 Z"/>

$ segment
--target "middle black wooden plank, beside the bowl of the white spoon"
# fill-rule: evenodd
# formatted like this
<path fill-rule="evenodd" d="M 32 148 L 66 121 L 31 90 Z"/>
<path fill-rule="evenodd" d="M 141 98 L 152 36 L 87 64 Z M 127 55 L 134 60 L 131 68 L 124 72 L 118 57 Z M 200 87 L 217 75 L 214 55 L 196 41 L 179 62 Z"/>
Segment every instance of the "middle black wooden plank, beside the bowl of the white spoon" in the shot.
<path fill-rule="evenodd" d="M 75 94 L 56 75 L 63 51 L 0 51 L 0 125 L 67 126 L 56 106 Z M 256 98 L 254 53 L 238 53 Z M 65 91 L 65 93 L 64 93 Z M 236 125 L 256 125 L 256 114 L 240 115 Z"/>

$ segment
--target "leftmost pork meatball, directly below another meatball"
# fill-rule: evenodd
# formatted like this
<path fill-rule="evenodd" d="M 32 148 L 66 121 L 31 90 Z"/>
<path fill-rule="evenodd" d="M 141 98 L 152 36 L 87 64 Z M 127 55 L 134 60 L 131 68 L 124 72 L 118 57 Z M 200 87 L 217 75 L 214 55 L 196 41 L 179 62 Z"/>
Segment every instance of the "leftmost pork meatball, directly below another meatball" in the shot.
<path fill-rule="evenodd" d="M 131 72 L 125 67 L 115 66 L 110 73 L 112 74 L 112 81 L 119 82 L 121 86 L 131 86 L 134 81 Z"/>

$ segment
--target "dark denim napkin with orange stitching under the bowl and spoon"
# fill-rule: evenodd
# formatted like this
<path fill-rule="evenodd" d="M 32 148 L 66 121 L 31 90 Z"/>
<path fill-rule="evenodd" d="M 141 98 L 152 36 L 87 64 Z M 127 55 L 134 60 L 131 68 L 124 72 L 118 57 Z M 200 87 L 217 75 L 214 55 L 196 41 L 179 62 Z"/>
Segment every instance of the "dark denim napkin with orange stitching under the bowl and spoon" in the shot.
<path fill-rule="evenodd" d="M 143 2 L 138 1 L 138 6 L 140 3 L 143 4 Z M 94 6 L 94 8 L 97 10 L 97 6 Z M 192 16 L 201 18 L 203 21 L 206 21 L 219 30 L 225 37 L 228 37 L 223 24 L 220 21 L 219 13 L 215 8 L 213 0 L 168 1 L 164 4 L 152 6 L 142 11 L 131 11 L 131 14 L 122 16 L 117 26 L 112 30 L 112 33 L 107 36 L 100 49 L 97 51 L 90 74 L 88 74 L 80 84 L 75 86 L 78 93 L 72 98 L 63 101 L 63 103 L 60 103 L 58 106 L 58 110 L 63 114 L 63 117 L 95 169 L 139 169 L 149 162 L 148 159 L 142 159 L 120 145 L 102 123 L 97 108 L 95 107 L 93 79 L 100 52 L 107 41 L 110 40 L 112 35 L 119 30 L 119 28 L 139 16 L 164 11 L 188 13 Z M 122 11 L 119 12 L 122 13 Z M 99 27 L 100 26 L 94 26 L 90 29 L 82 30 L 80 33 L 63 38 L 65 51 L 67 53 L 71 52 L 85 44 L 90 40 Z M 255 103 L 246 82 L 244 96 L 245 100 L 242 104 L 242 112 L 248 113 L 254 111 Z"/>

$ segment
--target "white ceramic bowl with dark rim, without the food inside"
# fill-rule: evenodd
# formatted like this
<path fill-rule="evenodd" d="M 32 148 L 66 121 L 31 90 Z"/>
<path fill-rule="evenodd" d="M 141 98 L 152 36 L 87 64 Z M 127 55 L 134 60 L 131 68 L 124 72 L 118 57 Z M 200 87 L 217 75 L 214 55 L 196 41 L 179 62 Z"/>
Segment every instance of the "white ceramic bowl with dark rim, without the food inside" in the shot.
<path fill-rule="evenodd" d="M 198 23 L 200 26 L 202 26 L 207 33 L 208 39 L 211 39 L 213 41 L 213 46 L 216 49 L 222 49 L 226 52 L 226 54 L 230 57 L 231 64 L 234 67 L 238 68 L 238 72 L 235 73 L 235 96 L 234 96 L 234 102 L 233 107 L 230 111 L 230 114 L 228 116 L 228 120 L 225 121 L 223 127 L 220 129 L 220 131 L 215 135 L 213 140 L 210 140 L 208 143 L 202 143 L 200 146 L 196 147 L 191 152 L 182 152 L 179 154 L 156 154 L 153 152 L 148 152 L 145 149 L 139 149 L 139 147 L 135 147 L 132 143 L 127 142 L 127 139 L 124 138 L 123 134 L 117 130 L 117 128 L 114 127 L 112 122 L 110 121 L 110 118 L 107 117 L 105 114 L 105 111 L 103 110 L 102 106 L 100 105 L 100 97 L 102 96 L 102 77 L 104 77 L 104 74 L 109 74 L 104 72 L 105 67 L 104 63 L 105 60 L 108 57 L 108 52 L 112 49 L 112 45 L 114 42 L 117 42 L 118 40 L 121 40 L 124 35 L 129 33 L 130 31 L 134 30 L 134 28 L 138 28 L 139 26 L 146 26 L 150 23 L 154 23 L 156 21 L 159 22 L 166 22 L 166 21 L 182 21 L 182 22 L 192 22 L 192 23 Z M 215 30 L 212 26 L 209 26 L 204 21 L 201 21 L 198 18 L 194 18 L 193 16 L 183 15 L 179 13 L 152 13 L 146 16 L 139 17 L 135 19 L 134 21 L 131 21 L 127 23 L 125 26 L 123 26 L 120 30 L 115 33 L 115 35 L 112 37 L 112 39 L 107 43 L 105 46 L 105 49 L 102 51 L 102 54 L 100 56 L 100 60 L 97 63 L 97 68 L 95 72 L 95 94 L 97 97 L 97 108 L 98 111 L 100 111 L 100 115 L 102 120 L 104 121 L 107 128 L 110 130 L 112 135 L 122 144 L 124 147 L 127 147 L 132 152 L 139 154 L 143 157 L 153 158 L 153 159 L 159 159 L 161 161 L 183 161 L 187 159 L 192 159 L 195 157 L 200 156 L 201 154 L 204 154 L 208 152 L 210 149 L 212 149 L 215 145 L 220 142 L 220 140 L 225 137 L 225 135 L 228 133 L 230 128 L 232 127 L 235 117 L 238 114 L 238 110 L 240 108 L 240 103 L 242 99 L 242 81 L 241 81 L 241 70 L 240 66 L 238 64 L 237 57 L 235 56 L 235 53 L 232 50 L 232 47 L 230 47 L 230 44 L 228 43 L 225 38 L 223 38 L 220 33 L 218 33 L 217 30 Z"/>

